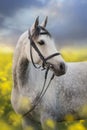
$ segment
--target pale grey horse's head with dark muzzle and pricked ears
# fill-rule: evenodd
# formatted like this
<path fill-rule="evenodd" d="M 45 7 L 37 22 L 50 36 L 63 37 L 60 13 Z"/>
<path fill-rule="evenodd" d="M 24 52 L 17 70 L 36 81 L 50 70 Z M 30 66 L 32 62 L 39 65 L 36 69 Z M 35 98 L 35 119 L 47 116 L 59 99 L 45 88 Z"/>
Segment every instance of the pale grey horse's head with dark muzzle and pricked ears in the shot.
<path fill-rule="evenodd" d="M 66 73 L 66 63 L 58 52 L 52 35 L 46 29 L 47 17 L 39 24 L 39 17 L 36 18 L 34 24 L 29 29 L 30 45 L 30 61 L 33 64 L 49 67 L 55 75 L 60 76 Z M 27 53 L 29 50 L 27 48 Z"/>

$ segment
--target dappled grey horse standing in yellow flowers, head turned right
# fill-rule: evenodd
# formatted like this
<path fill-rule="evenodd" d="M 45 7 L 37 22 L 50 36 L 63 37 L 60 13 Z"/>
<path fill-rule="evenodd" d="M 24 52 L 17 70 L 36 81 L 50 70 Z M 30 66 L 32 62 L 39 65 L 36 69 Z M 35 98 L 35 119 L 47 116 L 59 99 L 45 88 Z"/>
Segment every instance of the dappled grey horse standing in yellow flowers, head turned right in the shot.
<path fill-rule="evenodd" d="M 55 75 L 54 79 L 35 109 L 28 112 L 42 91 L 46 73 L 46 70 L 36 69 L 32 64 L 29 35 L 45 58 L 58 53 L 52 36 L 45 28 L 46 24 L 47 18 L 41 25 L 37 18 L 30 31 L 20 36 L 15 49 L 11 102 L 15 112 L 23 116 L 24 129 L 32 126 L 36 130 L 41 126 L 46 130 L 47 120 L 64 121 L 68 114 L 72 114 L 75 119 L 85 118 L 85 114 L 82 115 L 80 111 L 87 104 L 87 62 L 66 63 L 61 55 L 48 59 L 51 68 L 46 85 L 52 74 Z M 39 33 L 37 27 L 41 27 Z M 42 60 L 34 48 L 32 55 L 34 64 L 42 66 Z M 55 129 L 58 129 L 56 123 Z"/>

